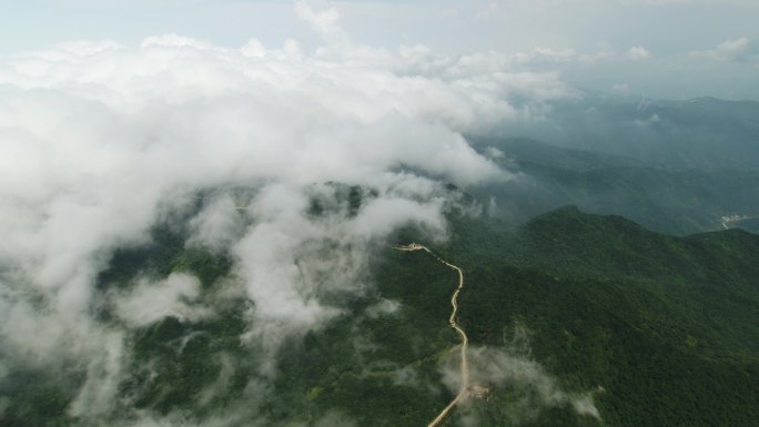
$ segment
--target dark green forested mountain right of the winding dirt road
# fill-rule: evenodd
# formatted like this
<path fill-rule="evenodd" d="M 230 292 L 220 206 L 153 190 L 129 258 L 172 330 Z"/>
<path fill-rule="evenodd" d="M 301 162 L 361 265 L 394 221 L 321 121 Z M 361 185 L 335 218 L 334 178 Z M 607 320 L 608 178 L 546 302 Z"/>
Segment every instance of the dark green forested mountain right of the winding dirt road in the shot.
<path fill-rule="evenodd" d="M 565 207 L 492 245 L 472 265 L 463 321 L 474 342 L 533 331 L 538 360 L 596 395 L 606 425 L 756 425 L 759 236 L 671 237 Z M 497 256 L 493 256 L 497 254 Z"/>

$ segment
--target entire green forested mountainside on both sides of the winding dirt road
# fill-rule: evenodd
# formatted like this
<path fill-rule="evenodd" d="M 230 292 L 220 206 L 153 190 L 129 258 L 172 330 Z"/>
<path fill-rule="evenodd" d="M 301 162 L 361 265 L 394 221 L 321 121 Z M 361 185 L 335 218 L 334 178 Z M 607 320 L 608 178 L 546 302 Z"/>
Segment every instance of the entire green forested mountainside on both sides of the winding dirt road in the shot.
<path fill-rule="evenodd" d="M 217 293 L 232 260 L 185 250 L 178 230 L 118 251 L 100 292 L 184 272 L 219 313 L 133 331 L 118 405 L 99 423 L 424 426 L 454 397 L 456 273 L 434 256 L 377 245 L 373 286 L 343 296 L 338 316 L 285 343 L 275 374 L 262 374 L 266 355 L 240 339 L 250 303 Z M 464 270 L 459 323 L 477 386 L 444 425 L 759 425 L 759 236 L 674 237 L 563 207 L 516 230 L 452 213 L 452 238 L 433 250 Z M 13 373 L 3 425 L 88 425 L 65 410 L 81 369 Z"/>

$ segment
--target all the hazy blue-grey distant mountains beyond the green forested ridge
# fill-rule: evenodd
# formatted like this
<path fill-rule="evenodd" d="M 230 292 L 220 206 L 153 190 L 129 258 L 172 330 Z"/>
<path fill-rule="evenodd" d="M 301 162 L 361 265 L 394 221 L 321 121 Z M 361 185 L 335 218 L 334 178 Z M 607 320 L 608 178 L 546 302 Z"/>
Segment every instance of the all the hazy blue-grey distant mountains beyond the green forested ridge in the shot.
<path fill-rule="evenodd" d="M 520 224 L 574 204 L 666 234 L 741 227 L 759 218 L 759 103 L 586 93 L 546 120 L 469 140 L 515 179 L 470 191 Z M 520 135 L 522 138 L 515 138 Z"/>

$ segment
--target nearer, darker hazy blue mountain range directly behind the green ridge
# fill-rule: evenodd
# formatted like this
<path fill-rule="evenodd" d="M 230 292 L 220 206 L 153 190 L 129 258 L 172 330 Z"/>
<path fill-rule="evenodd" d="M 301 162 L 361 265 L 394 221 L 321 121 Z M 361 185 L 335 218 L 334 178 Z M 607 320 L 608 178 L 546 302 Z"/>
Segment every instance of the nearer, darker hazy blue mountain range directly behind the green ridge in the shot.
<path fill-rule="evenodd" d="M 575 204 L 587 212 L 623 215 L 658 232 L 687 235 L 721 230 L 722 216 L 759 214 L 756 170 L 664 169 L 623 155 L 526 139 L 474 142 L 483 152 L 504 153 L 495 161 L 515 179 L 472 192 L 480 200 L 492 197 L 490 215 L 513 223 Z"/>

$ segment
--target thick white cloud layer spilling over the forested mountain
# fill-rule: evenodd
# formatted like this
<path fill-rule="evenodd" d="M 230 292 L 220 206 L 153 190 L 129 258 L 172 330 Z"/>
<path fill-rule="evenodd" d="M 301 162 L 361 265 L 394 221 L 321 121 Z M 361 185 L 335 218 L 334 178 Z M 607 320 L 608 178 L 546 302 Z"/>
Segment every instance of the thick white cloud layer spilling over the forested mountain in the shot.
<path fill-rule="evenodd" d="M 242 338 L 263 349 L 262 372 L 273 375 L 283 339 L 341 313 L 321 295 L 364 292 L 368 242 L 409 224 L 444 238 L 452 201 L 442 182 L 508 179 L 463 132 L 568 93 L 554 74 L 493 70 L 487 55 L 354 45 L 334 11 L 296 9 L 324 48 L 230 49 L 169 34 L 0 63 L 3 369 L 77 360 L 88 378 L 70 413 L 111 410 L 129 357 L 124 331 L 213 309 L 198 301 L 194 277 L 141 278 L 107 295 L 118 322 L 105 324 L 93 315 L 99 272 L 198 191 L 245 187 L 245 196 L 206 192 L 186 245 L 234 255 L 226 292 L 254 304 Z M 341 191 L 330 183 L 373 193 L 357 212 L 325 202 L 315 218 L 310 201 Z"/>

